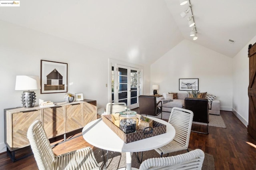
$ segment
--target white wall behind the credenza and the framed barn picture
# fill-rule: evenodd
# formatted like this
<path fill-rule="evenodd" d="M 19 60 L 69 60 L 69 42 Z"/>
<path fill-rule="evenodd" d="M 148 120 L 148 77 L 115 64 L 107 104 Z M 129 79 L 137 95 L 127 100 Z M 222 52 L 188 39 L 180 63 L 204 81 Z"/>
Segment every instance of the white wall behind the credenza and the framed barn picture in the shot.
<path fill-rule="evenodd" d="M 106 107 L 108 58 L 116 59 L 116 56 L 3 21 L 0 21 L 0 31 L 0 152 L 6 151 L 4 109 L 21 106 L 22 91 L 14 90 L 16 75 L 40 76 L 41 59 L 68 63 L 68 92 L 84 93 L 84 99 L 97 100 L 98 107 Z M 144 68 L 144 76 L 150 77 L 149 66 Z M 149 93 L 148 87 L 144 90 Z M 35 92 L 37 104 L 38 99 L 64 101 L 65 93 Z"/>

